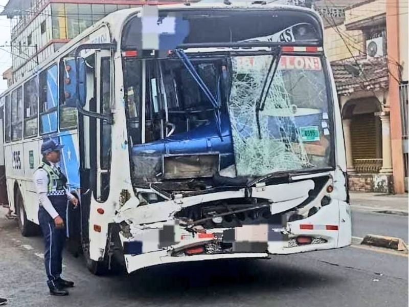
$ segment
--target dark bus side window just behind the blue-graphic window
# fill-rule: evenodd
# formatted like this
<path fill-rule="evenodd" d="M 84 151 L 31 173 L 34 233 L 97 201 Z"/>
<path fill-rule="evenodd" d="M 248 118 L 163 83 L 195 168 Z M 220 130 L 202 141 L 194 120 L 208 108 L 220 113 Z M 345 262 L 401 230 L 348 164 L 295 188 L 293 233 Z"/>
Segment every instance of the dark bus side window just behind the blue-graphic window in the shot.
<path fill-rule="evenodd" d="M 38 77 L 24 84 L 24 137 L 37 136 Z"/>

